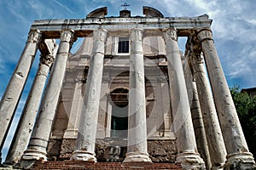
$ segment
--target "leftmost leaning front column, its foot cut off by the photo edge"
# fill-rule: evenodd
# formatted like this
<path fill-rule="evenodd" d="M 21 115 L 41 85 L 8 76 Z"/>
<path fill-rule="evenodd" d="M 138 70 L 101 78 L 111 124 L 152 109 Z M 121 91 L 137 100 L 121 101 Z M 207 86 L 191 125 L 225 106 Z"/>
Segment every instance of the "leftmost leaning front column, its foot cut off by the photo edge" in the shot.
<path fill-rule="evenodd" d="M 0 150 L 3 148 L 4 140 L 9 131 L 10 124 L 15 115 L 17 104 L 20 100 L 20 94 L 26 83 L 26 78 L 31 70 L 35 55 L 38 50 L 38 43 L 41 39 L 41 33 L 38 30 L 31 30 L 27 37 L 26 46 L 20 56 L 19 63 L 15 72 L 3 94 L 0 103 Z M 1 155 L 1 154 L 0 154 Z M 1 156 L 0 156 L 1 157 Z"/>

